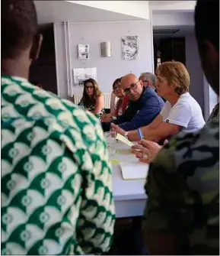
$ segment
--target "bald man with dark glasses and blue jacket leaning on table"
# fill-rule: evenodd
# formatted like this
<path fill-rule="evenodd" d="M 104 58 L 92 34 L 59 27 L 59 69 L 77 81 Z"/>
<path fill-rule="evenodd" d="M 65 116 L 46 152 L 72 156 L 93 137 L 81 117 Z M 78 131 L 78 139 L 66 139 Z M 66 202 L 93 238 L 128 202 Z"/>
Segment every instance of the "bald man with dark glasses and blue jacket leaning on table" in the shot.
<path fill-rule="evenodd" d="M 126 112 L 113 120 L 124 131 L 131 131 L 148 125 L 161 112 L 164 102 L 150 86 L 143 86 L 141 80 L 132 73 L 123 76 L 121 86 L 129 97 Z"/>

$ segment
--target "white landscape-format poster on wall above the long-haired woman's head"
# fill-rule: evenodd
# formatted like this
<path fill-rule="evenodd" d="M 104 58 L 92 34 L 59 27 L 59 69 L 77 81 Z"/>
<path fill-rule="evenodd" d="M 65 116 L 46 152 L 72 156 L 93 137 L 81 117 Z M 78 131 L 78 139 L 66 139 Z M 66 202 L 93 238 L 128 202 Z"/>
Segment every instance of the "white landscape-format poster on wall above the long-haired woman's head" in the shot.
<path fill-rule="evenodd" d="M 74 86 L 83 86 L 84 80 L 87 80 L 89 78 L 97 80 L 96 67 L 73 69 Z"/>

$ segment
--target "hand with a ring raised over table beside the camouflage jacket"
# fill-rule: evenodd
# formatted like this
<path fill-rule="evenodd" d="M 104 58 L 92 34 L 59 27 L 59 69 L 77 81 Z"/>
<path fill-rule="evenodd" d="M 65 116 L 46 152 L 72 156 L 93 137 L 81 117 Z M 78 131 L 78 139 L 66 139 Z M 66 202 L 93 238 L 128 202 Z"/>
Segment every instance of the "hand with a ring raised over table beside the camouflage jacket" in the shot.
<path fill-rule="evenodd" d="M 139 158 L 140 162 L 150 164 L 161 148 L 162 146 L 156 142 L 141 140 L 139 144 L 132 146 L 132 153 Z M 136 149 L 139 151 L 136 151 Z"/>

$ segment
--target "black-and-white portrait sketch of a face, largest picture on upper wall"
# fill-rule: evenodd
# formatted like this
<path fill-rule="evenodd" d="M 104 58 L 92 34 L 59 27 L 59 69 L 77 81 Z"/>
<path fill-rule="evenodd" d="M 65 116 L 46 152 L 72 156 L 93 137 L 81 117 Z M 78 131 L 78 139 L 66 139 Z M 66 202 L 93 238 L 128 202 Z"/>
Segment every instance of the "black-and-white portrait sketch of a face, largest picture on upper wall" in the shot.
<path fill-rule="evenodd" d="M 139 42 L 137 36 L 121 38 L 123 60 L 136 60 L 139 57 Z"/>

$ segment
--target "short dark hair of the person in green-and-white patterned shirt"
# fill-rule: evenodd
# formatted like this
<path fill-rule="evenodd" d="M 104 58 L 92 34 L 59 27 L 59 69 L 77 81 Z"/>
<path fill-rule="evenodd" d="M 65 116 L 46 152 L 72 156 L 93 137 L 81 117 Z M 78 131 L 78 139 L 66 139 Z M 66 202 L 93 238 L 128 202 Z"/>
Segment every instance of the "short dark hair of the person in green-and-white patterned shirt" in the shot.
<path fill-rule="evenodd" d="M 2 0 L 2 58 L 17 57 L 37 34 L 33 0 Z"/>

